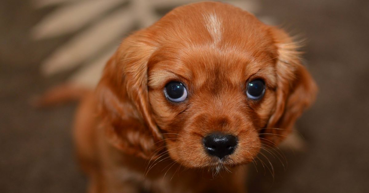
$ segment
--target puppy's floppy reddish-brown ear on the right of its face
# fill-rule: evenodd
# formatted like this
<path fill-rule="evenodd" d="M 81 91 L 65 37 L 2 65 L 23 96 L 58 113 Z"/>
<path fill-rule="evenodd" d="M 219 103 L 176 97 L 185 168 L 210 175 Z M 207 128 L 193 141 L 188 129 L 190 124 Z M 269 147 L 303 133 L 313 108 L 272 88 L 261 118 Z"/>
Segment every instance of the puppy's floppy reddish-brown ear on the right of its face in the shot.
<path fill-rule="evenodd" d="M 301 65 L 299 45 L 283 31 L 272 28 L 277 48 L 276 108 L 270 117 L 263 138 L 278 144 L 315 100 L 317 86 L 308 71 Z"/>

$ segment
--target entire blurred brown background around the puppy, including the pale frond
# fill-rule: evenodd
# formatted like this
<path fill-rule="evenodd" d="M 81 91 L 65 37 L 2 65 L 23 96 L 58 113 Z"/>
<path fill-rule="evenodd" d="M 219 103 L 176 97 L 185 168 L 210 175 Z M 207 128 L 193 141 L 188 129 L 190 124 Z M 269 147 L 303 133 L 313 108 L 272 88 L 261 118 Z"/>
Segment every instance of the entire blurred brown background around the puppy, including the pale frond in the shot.
<path fill-rule="evenodd" d="M 192 0 L 0 1 L 0 192 L 85 192 L 71 126 L 77 103 L 30 100 L 63 82 L 93 87 L 120 40 Z M 232 0 L 307 39 L 305 64 L 320 92 L 296 124 L 303 147 L 252 166 L 249 192 L 368 192 L 369 1 Z M 286 164 L 285 164 L 286 165 Z"/>

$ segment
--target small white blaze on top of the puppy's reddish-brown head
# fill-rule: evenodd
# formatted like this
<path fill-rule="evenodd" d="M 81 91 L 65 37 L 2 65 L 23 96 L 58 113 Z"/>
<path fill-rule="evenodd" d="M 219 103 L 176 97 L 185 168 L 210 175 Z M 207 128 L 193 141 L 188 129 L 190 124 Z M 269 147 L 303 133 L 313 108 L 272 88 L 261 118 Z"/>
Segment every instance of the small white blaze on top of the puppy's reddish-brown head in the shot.
<path fill-rule="evenodd" d="M 220 42 L 220 39 L 222 38 L 222 21 L 219 20 L 217 15 L 215 13 L 211 13 L 209 15 L 204 15 L 204 19 L 206 21 L 205 26 L 210 33 L 211 37 L 214 40 L 214 43 Z"/>

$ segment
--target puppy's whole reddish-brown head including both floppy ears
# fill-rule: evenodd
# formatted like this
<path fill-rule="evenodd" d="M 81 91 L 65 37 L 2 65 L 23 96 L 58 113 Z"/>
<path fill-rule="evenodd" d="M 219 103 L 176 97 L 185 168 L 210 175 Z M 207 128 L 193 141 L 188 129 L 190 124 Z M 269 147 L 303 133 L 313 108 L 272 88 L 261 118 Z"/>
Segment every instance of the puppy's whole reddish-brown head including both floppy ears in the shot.
<path fill-rule="evenodd" d="M 314 99 L 296 48 L 239 8 L 176 8 L 112 57 L 98 87 L 100 115 L 126 152 L 145 157 L 161 146 L 190 168 L 248 163 Z"/>

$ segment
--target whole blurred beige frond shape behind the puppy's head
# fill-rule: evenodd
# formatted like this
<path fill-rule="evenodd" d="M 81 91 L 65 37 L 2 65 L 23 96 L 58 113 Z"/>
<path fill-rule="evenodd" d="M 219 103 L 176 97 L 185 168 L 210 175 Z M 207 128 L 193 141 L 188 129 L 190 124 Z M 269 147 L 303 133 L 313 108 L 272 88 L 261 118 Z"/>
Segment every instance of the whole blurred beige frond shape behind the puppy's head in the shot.
<path fill-rule="evenodd" d="M 124 4 L 129 1 L 129 3 Z M 199 0 L 33 0 L 35 7 L 57 6 L 32 30 L 34 39 L 45 39 L 79 32 L 41 64 L 44 75 L 53 75 L 77 65 L 86 64 L 73 73 L 68 82 L 94 87 L 101 76 L 102 69 L 116 49 L 124 34 L 133 26 L 139 28 L 153 24 L 163 15 L 157 10 L 167 10 Z M 223 1 L 257 14 L 260 6 L 256 0 Z M 118 10 L 116 10 L 118 8 Z M 114 11 L 116 10 L 116 11 Z M 261 18 L 270 24 L 270 18 Z M 83 27 L 88 28 L 81 31 Z M 105 50 L 105 51 L 104 51 Z M 106 51 L 107 50 L 107 51 Z M 103 54 L 101 54 L 103 53 Z M 100 57 L 95 57 L 100 55 Z M 91 58 L 96 58 L 91 60 Z"/>

